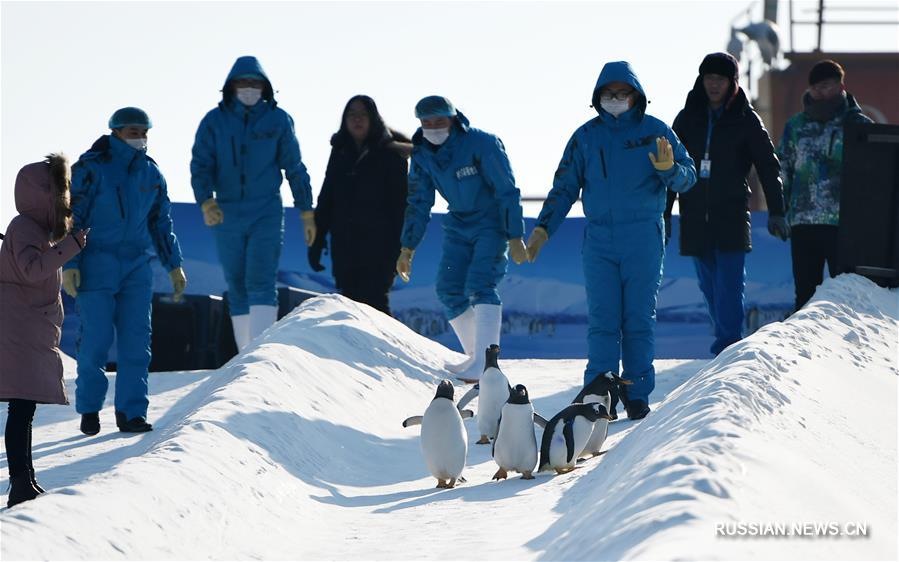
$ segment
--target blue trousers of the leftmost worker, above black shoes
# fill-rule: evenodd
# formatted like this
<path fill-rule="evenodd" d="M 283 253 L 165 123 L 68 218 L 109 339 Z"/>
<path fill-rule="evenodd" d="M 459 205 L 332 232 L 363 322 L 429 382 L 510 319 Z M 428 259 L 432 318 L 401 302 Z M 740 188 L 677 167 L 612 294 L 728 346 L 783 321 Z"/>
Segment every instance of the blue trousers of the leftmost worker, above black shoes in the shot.
<path fill-rule="evenodd" d="M 150 256 L 126 249 L 87 251 L 81 257 L 81 287 L 75 303 L 81 318 L 76 358 L 75 411 L 99 412 L 109 380 L 106 361 L 116 335 L 115 409 L 127 419 L 147 417 L 150 366 Z"/>

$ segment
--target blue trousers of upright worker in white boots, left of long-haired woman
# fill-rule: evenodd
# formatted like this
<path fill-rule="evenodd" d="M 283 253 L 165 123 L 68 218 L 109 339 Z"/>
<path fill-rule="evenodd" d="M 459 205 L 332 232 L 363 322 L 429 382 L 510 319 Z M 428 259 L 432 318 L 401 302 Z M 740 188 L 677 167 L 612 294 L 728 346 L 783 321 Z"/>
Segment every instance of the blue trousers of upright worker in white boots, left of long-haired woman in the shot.
<path fill-rule="evenodd" d="M 224 221 L 212 227 L 219 261 L 228 284 L 231 316 L 250 306 L 278 306 L 275 281 L 284 243 L 280 198 L 264 202 L 221 203 Z"/>

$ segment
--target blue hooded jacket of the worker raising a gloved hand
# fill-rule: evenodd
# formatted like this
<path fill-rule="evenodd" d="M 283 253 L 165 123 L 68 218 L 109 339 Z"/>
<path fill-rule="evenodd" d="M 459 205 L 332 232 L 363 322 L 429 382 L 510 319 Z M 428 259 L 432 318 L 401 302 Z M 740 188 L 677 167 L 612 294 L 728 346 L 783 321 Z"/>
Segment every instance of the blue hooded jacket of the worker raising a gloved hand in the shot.
<path fill-rule="evenodd" d="M 617 119 L 600 108 L 599 91 L 611 82 L 624 82 L 640 95 Z M 599 114 L 578 128 L 562 155 L 537 219 L 552 235 L 583 190 L 584 214 L 591 224 L 658 220 L 665 210 L 666 189 L 683 192 L 696 183 L 693 160 L 668 125 L 646 114 L 646 94 L 630 64 L 607 63 L 593 90 Z M 656 154 L 656 138 L 668 139 L 674 166 L 660 172 L 649 159 Z"/>

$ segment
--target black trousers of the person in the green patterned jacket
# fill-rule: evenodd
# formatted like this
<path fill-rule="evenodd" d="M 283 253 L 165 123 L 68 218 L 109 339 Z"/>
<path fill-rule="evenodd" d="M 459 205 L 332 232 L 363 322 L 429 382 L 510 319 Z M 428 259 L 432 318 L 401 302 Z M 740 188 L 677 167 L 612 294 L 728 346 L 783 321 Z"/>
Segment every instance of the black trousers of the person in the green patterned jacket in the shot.
<path fill-rule="evenodd" d="M 796 310 L 815 294 L 824 282 L 824 264 L 831 277 L 837 270 L 837 227 L 829 224 L 799 224 L 790 235 L 793 256 L 793 284 L 796 288 Z"/>

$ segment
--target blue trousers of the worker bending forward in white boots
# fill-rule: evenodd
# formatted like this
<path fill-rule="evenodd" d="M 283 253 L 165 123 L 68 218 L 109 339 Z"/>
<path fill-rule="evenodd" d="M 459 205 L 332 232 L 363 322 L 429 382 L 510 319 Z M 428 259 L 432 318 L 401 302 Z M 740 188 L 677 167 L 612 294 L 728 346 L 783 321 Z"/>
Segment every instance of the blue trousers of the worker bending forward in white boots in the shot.
<path fill-rule="evenodd" d="M 444 221 L 451 220 L 448 215 Z M 501 304 L 496 286 L 506 275 L 509 242 L 499 231 L 445 228 L 437 271 L 437 298 L 453 319 L 476 304 Z"/>

